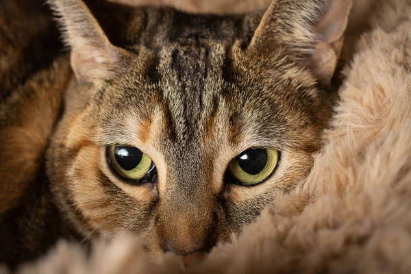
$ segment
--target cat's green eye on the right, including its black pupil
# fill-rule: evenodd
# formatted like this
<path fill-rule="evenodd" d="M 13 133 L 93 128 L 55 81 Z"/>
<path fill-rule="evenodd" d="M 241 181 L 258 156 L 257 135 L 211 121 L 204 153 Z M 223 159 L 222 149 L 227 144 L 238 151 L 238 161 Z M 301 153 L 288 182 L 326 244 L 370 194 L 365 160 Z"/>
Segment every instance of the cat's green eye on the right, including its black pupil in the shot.
<path fill-rule="evenodd" d="M 247 149 L 229 163 L 228 169 L 239 183 L 258 184 L 273 173 L 278 158 L 277 149 Z"/>

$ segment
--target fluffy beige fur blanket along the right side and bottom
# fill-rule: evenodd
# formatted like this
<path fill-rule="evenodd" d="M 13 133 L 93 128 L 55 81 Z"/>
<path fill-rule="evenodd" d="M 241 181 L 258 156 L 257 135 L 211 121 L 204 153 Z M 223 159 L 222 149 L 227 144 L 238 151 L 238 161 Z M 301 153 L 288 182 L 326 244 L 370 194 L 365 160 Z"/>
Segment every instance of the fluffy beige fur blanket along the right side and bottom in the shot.
<path fill-rule="evenodd" d="M 18 273 L 411 273 L 411 2 L 366 6 L 349 29 L 369 31 L 347 40 L 352 62 L 312 172 L 232 243 L 184 269 L 171 254 L 152 264 L 127 235 L 90 256 L 60 242 Z"/>

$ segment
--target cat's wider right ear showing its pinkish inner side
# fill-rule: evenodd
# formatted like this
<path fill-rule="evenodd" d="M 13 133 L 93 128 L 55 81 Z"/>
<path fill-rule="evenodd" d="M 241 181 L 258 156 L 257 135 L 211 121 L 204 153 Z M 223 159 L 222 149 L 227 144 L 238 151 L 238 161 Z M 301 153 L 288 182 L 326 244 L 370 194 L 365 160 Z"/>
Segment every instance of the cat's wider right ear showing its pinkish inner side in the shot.
<path fill-rule="evenodd" d="M 249 48 L 260 52 L 283 47 L 328 84 L 343 46 L 352 0 L 273 0 Z M 264 54 L 264 53 L 263 53 Z"/>

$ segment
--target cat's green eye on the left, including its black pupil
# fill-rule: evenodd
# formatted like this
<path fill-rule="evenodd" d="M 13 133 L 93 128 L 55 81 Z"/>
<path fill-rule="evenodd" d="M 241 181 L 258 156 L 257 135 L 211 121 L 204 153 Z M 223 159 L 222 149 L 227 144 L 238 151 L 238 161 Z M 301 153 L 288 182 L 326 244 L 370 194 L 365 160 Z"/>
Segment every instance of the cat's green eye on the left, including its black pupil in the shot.
<path fill-rule="evenodd" d="M 112 145 L 107 147 L 108 162 L 121 177 L 142 179 L 153 170 L 153 161 L 136 147 Z"/>

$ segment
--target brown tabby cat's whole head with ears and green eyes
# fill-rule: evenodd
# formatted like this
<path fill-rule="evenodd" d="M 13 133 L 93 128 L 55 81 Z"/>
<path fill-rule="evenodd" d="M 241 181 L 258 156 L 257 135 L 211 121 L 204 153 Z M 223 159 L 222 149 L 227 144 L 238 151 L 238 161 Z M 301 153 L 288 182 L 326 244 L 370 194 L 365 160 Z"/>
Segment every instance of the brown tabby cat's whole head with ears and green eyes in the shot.
<path fill-rule="evenodd" d="M 77 84 L 48 173 L 84 236 L 131 232 L 154 258 L 208 251 L 307 175 L 350 1 L 246 16 L 100 1 L 99 21 L 82 1 L 52 4 Z"/>

